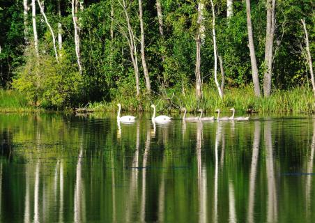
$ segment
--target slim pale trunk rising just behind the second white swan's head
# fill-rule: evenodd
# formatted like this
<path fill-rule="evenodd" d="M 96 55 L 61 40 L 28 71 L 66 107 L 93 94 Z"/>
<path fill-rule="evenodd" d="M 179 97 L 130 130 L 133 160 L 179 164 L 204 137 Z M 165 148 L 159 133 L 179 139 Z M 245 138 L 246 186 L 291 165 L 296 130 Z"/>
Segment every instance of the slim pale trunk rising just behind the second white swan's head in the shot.
<path fill-rule="evenodd" d="M 146 91 L 151 92 L 150 77 L 148 77 L 148 68 L 146 66 L 146 55 L 144 54 L 145 43 L 144 43 L 144 20 L 143 20 L 143 10 L 142 1 L 138 0 L 139 3 L 139 20 L 140 20 L 140 30 L 141 30 L 141 61 L 142 68 L 144 68 L 144 78 L 146 79 Z"/>

